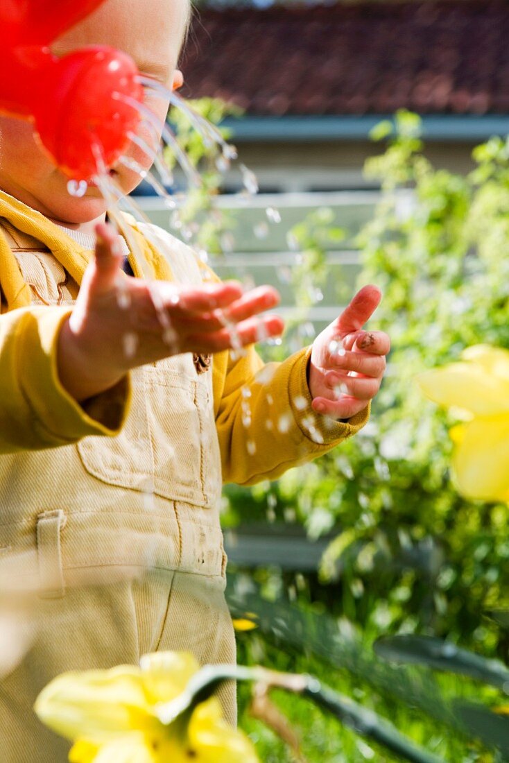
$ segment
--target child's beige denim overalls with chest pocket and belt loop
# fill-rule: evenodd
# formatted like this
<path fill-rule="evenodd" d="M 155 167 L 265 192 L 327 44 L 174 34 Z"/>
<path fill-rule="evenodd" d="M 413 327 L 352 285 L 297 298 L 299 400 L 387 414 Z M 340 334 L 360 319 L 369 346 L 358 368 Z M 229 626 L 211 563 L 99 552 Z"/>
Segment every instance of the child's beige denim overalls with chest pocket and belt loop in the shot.
<path fill-rule="evenodd" d="M 4 232 L 33 303 L 72 303 L 76 284 L 53 255 Z M 188 248 L 170 243 L 176 281 L 201 282 Z M 235 661 L 212 374 L 176 356 L 137 369 L 132 395 L 114 438 L 0 456 L 0 549 L 14 559 L 20 590 L 40 589 L 27 598 L 31 650 L 0 683 L 2 763 L 66 761 L 69 745 L 31 711 L 56 674 L 136 663 L 159 649 L 188 649 L 202 664 Z M 234 687 L 221 699 L 234 722 Z"/>

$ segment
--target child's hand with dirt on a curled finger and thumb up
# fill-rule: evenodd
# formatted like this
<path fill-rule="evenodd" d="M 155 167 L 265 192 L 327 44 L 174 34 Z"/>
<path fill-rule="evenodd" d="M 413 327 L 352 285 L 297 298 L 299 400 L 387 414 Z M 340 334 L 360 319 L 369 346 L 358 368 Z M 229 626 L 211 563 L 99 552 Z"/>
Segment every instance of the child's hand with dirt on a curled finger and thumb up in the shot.
<path fill-rule="evenodd" d="M 381 298 L 378 287 L 365 286 L 314 340 L 308 385 L 317 413 L 350 419 L 379 391 L 391 340 L 382 331 L 361 328 Z"/>

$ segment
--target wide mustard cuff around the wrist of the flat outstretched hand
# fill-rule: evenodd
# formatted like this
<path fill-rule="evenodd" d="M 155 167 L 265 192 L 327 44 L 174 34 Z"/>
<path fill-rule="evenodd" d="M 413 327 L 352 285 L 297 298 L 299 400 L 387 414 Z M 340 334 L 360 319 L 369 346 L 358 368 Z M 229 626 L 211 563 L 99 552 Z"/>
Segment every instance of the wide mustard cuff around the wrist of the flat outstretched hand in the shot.
<path fill-rule="evenodd" d="M 19 385 L 34 416 L 34 429 L 49 446 L 75 443 L 89 435 L 117 435 L 130 405 L 128 377 L 83 404 L 63 388 L 57 369 L 58 340 L 71 311 L 62 307 L 27 311 L 20 327 Z"/>

